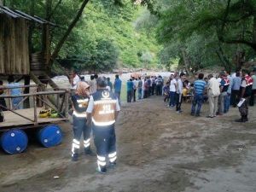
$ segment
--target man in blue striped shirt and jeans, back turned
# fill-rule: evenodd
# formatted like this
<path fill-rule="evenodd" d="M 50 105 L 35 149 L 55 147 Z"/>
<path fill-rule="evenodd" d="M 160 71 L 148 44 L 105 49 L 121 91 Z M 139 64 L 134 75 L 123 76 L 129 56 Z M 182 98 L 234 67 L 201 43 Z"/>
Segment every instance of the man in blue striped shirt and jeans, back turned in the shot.
<path fill-rule="evenodd" d="M 204 92 L 206 89 L 206 82 L 203 80 L 204 74 L 200 73 L 198 79 L 194 83 L 194 100 L 192 102 L 191 115 L 200 116 L 201 105 L 204 101 Z M 197 105 L 197 108 L 196 108 Z M 195 109 L 196 108 L 196 109 Z"/>

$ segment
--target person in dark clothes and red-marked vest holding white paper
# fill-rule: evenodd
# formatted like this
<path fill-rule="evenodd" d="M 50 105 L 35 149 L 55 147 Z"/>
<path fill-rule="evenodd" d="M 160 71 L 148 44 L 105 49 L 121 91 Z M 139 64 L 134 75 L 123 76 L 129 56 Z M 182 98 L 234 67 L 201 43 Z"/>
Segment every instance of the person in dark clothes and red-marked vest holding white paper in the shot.
<path fill-rule="evenodd" d="M 241 88 L 240 88 L 240 102 L 237 104 L 241 119 L 236 119 L 236 122 L 245 123 L 248 121 L 248 102 L 252 94 L 253 79 L 248 75 L 245 69 L 241 70 Z"/>

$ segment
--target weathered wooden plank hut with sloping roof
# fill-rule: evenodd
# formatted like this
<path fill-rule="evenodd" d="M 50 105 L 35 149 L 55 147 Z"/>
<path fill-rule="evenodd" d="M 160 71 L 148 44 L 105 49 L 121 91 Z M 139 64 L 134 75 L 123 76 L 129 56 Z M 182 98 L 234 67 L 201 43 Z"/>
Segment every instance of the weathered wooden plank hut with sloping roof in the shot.
<path fill-rule="evenodd" d="M 46 33 L 42 34 L 42 50 L 37 53 L 30 53 L 28 47 L 32 22 Z M 0 74 L 29 75 L 31 71 L 44 71 L 50 57 L 49 26 L 55 24 L 0 5 Z"/>

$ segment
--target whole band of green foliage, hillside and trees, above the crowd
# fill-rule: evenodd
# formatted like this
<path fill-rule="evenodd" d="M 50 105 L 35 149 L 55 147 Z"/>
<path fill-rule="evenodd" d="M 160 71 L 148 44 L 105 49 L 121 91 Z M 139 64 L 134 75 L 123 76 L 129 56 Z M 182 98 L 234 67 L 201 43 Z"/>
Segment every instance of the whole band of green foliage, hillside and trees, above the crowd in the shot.
<path fill-rule="evenodd" d="M 2 0 L 3 1 L 3 0 Z M 255 59 L 256 0 L 5 0 L 55 22 L 51 50 L 85 3 L 55 61 L 78 70 L 178 65 L 188 73 L 204 67 L 226 70 Z M 140 6 L 142 5 L 142 6 Z M 32 52 L 41 49 L 31 27 Z"/>

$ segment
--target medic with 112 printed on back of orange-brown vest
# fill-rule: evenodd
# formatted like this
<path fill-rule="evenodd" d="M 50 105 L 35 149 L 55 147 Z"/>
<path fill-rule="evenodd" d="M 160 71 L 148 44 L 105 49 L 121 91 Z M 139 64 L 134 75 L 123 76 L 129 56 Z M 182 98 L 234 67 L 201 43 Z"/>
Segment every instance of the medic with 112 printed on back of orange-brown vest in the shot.
<path fill-rule="evenodd" d="M 92 125 L 94 143 L 97 154 L 97 171 L 107 172 L 107 158 L 109 166 L 116 165 L 116 138 L 114 123 L 118 117 L 120 107 L 118 98 L 106 89 L 107 79 L 97 79 L 97 91 L 90 96 L 87 108 L 88 125 Z"/>

